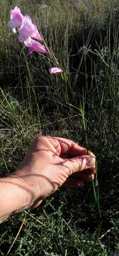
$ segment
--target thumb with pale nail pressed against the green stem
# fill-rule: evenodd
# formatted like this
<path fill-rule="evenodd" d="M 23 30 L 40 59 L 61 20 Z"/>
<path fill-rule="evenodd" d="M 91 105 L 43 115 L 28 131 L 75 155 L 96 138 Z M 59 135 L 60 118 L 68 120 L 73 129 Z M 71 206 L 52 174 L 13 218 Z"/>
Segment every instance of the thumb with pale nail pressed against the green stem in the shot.
<path fill-rule="evenodd" d="M 94 156 L 77 156 L 72 159 L 67 159 L 65 165 L 69 169 L 69 175 L 76 173 L 77 171 L 83 171 L 85 169 L 95 167 Z"/>

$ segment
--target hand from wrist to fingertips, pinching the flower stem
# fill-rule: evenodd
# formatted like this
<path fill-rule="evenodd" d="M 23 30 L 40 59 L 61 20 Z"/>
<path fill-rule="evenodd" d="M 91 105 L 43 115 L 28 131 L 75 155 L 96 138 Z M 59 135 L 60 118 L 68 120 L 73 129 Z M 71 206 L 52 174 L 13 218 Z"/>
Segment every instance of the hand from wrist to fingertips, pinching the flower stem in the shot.
<path fill-rule="evenodd" d="M 95 172 L 93 153 L 87 155 L 86 149 L 69 139 L 39 136 L 14 174 L 27 184 L 35 208 L 60 186 L 84 186 Z"/>

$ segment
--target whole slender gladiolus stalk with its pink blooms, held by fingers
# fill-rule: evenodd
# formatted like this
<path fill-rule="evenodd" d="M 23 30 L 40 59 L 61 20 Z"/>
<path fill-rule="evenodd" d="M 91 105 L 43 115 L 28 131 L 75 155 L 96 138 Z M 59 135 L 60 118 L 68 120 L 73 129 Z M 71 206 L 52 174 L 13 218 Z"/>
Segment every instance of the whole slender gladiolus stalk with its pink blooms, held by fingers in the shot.
<path fill-rule="evenodd" d="M 33 24 L 30 16 L 28 15 L 23 16 L 23 14 L 21 13 L 21 9 L 19 9 L 17 6 L 15 6 L 15 8 L 10 11 L 10 14 L 11 14 L 11 19 L 8 22 L 8 28 L 10 28 L 13 33 L 16 33 L 18 35 L 19 42 L 24 43 L 24 45 L 28 47 L 28 54 L 33 53 L 33 51 L 36 51 L 39 53 L 47 53 L 47 55 L 50 56 L 50 59 L 52 60 L 53 65 L 55 64 L 56 67 L 50 68 L 49 71 L 51 74 L 61 73 L 62 80 L 64 81 L 65 90 L 67 92 L 66 73 L 64 73 L 64 70 L 62 70 L 62 68 L 60 67 L 60 63 L 55 57 L 55 54 L 47 46 L 47 43 L 45 42 L 42 34 L 38 32 L 38 28 L 35 24 Z M 38 41 L 42 42 L 42 44 L 39 43 Z M 85 112 L 84 112 L 84 95 L 83 95 L 83 104 L 81 105 L 80 108 L 69 103 L 68 93 L 66 93 L 65 95 L 67 95 L 67 98 L 65 98 L 66 104 L 69 105 L 69 107 L 73 107 L 74 109 L 79 111 L 79 115 L 81 116 L 82 126 L 84 127 L 86 150 L 87 150 L 87 154 L 89 154 L 90 152 L 89 152 L 89 145 L 88 145 L 88 139 L 86 134 L 86 122 L 85 122 L 86 119 L 85 119 Z M 93 174 L 91 173 L 91 180 L 92 180 L 92 188 L 93 188 L 93 195 L 94 195 L 94 203 L 96 204 L 96 206 L 98 206 L 98 213 L 101 218 L 101 211 L 99 206 L 99 189 L 98 189 L 97 171 L 98 171 L 98 167 L 97 167 L 97 161 L 96 161 L 96 178 L 94 181 Z"/>

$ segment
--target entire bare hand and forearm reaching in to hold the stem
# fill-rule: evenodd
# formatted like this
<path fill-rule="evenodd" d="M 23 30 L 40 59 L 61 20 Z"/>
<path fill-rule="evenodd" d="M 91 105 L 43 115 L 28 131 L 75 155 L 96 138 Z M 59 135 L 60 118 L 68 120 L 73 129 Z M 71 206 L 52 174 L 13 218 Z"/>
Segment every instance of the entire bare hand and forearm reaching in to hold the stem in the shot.
<path fill-rule="evenodd" d="M 0 179 L 0 222 L 26 208 L 37 207 L 60 186 L 80 187 L 91 181 L 96 157 L 69 139 L 37 137 L 21 166 Z"/>

